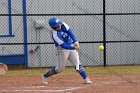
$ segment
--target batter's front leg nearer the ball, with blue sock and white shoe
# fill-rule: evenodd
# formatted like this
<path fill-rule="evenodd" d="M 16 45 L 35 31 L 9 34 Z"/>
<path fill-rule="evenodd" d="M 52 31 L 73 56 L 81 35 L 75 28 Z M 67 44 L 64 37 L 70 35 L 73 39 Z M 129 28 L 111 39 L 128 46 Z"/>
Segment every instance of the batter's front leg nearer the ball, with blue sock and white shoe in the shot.
<path fill-rule="evenodd" d="M 72 50 L 70 53 L 69 60 L 76 66 L 77 61 L 79 61 L 79 56 L 77 56 L 78 52 Z M 80 63 L 80 62 L 79 62 Z M 77 72 L 82 76 L 86 84 L 91 84 L 92 82 L 89 80 L 87 73 L 83 67 L 83 65 L 80 63 L 79 64 L 79 70 Z"/>

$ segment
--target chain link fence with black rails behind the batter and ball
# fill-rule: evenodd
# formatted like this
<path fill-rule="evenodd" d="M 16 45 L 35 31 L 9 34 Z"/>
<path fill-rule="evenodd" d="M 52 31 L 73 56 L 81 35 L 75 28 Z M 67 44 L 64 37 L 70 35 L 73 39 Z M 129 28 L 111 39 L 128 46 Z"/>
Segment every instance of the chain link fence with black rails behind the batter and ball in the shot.
<path fill-rule="evenodd" d="M 84 66 L 139 64 L 139 2 L 1 0 L 0 62 L 28 67 L 56 65 L 48 20 L 57 16 L 76 34 Z M 43 28 L 37 29 L 36 24 Z M 98 46 L 102 44 L 106 49 L 99 52 Z"/>

